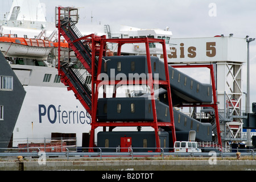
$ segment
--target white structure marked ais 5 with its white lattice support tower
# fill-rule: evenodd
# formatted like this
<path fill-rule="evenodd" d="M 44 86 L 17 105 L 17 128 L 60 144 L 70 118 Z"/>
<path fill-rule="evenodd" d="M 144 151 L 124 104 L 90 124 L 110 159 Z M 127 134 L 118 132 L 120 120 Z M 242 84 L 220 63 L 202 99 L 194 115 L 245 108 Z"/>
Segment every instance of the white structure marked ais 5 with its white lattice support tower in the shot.
<path fill-rule="evenodd" d="M 230 34 L 211 38 L 177 38 L 171 39 L 170 43 L 172 53 L 168 54 L 169 64 L 214 65 L 222 146 L 229 147 L 231 143 L 246 141 L 246 135 L 242 132 L 243 118 L 247 118 L 245 113 L 251 112 L 246 110 L 249 106 L 245 99 L 247 93 L 242 90 L 242 71 L 246 70 L 243 67 L 247 62 L 247 37 L 235 38 Z M 208 76 L 204 71 L 188 69 L 197 79 L 210 80 L 209 73 Z M 202 117 L 202 113 L 211 112 L 214 114 L 211 107 L 202 107 L 200 115 Z"/>

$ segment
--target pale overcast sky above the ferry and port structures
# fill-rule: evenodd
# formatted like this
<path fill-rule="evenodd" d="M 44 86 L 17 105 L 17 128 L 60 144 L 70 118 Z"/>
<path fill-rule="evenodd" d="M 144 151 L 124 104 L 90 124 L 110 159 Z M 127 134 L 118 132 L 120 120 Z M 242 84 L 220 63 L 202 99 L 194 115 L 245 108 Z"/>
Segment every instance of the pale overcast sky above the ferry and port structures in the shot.
<path fill-rule="evenodd" d="M 7 4 L 5 0 L 1 1 Z M 228 36 L 230 33 L 238 38 L 245 38 L 246 35 L 256 38 L 255 0 L 40 0 L 40 2 L 46 4 L 46 18 L 50 22 L 55 20 L 55 6 L 74 6 L 79 8 L 80 23 L 124 24 L 138 28 L 169 27 L 173 38 L 210 37 L 221 34 Z M 11 5 L 11 2 L 9 4 Z M 256 102 L 256 84 L 253 79 L 256 70 L 256 40 L 250 43 L 250 65 L 251 100 Z M 243 79 L 243 82 L 246 84 L 246 80 Z"/>

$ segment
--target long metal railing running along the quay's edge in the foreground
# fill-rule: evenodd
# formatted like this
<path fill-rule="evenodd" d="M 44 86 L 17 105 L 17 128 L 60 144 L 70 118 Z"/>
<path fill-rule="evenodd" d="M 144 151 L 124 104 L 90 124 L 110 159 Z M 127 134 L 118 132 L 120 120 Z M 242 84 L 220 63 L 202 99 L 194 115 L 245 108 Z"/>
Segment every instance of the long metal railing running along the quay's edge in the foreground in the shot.
<path fill-rule="evenodd" d="M 20 152 L 20 149 L 24 149 L 26 151 L 27 148 L 0 148 L 0 157 L 17 157 L 17 156 L 31 156 L 31 157 L 38 157 L 40 154 L 43 154 L 45 156 L 64 156 L 69 160 L 70 157 L 99 157 L 102 160 L 102 157 L 131 157 L 132 160 L 134 160 L 134 157 L 147 157 L 147 156 L 154 156 L 154 157 L 160 157 L 164 159 L 164 156 L 190 156 L 190 157 L 199 157 L 199 156 L 212 156 L 213 154 L 217 157 L 231 157 L 231 156 L 237 156 L 237 152 L 214 152 L 214 151 L 209 151 L 209 152 L 171 152 L 174 150 L 174 148 L 147 148 L 147 150 L 150 151 L 138 151 L 138 150 L 143 150 L 145 148 L 137 148 L 137 147 L 128 147 L 128 148 L 123 148 L 127 149 L 127 152 L 106 152 L 106 149 L 112 149 L 115 151 L 118 151 L 116 147 L 113 148 L 103 148 L 103 147 L 94 147 L 94 148 L 89 148 L 89 147 L 80 147 L 79 151 L 75 151 L 72 149 L 77 149 L 77 147 L 59 147 L 62 148 L 62 152 L 45 152 L 44 147 L 34 147 L 33 151 L 31 152 Z M 30 147 L 31 149 L 31 147 Z M 88 152 L 89 149 L 93 149 L 94 152 Z M 201 148 L 203 149 L 203 148 Z M 216 149 L 216 148 L 208 148 L 208 149 Z M 138 152 L 134 152 L 138 151 Z M 154 152 L 158 151 L 158 152 Z M 239 149 L 240 155 L 241 156 L 252 156 L 253 160 L 255 160 L 255 149 Z"/>

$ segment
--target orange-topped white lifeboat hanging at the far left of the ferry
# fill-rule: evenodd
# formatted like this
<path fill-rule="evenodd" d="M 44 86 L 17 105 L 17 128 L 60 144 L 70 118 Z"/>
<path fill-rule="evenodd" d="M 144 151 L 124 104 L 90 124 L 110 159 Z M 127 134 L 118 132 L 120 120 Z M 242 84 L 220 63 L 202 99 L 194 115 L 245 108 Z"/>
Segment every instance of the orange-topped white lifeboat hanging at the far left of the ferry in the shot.
<path fill-rule="evenodd" d="M 53 42 L 48 40 L 16 38 L 13 34 L 0 37 L 0 50 L 5 57 L 45 60 L 53 48 Z"/>

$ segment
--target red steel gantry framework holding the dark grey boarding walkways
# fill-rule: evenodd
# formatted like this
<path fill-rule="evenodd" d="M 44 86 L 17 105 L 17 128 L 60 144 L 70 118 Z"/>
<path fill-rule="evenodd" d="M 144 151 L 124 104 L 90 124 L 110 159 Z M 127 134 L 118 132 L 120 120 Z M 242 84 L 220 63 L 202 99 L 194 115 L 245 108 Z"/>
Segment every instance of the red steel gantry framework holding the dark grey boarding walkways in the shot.
<path fill-rule="evenodd" d="M 91 122 L 91 130 L 90 130 L 90 141 L 89 141 L 89 151 L 93 151 L 94 147 L 94 135 L 95 130 L 97 127 L 104 127 L 104 130 L 106 127 L 120 127 L 120 126 L 151 126 L 155 130 L 155 140 L 156 140 L 156 148 L 158 148 L 156 151 L 160 151 L 160 142 L 159 142 L 159 127 L 164 126 L 168 127 L 172 131 L 172 141 L 176 141 L 176 134 L 175 134 L 175 124 L 174 124 L 174 114 L 173 114 L 173 108 L 172 108 L 172 98 L 171 98 L 171 86 L 170 86 L 170 78 L 168 73 L 168 63 L 167 63 L 167 51 L 166 51 L 166 42 L 163 39 L 153 39 L 153 38 L 131 38 L 131 39 L 106 39 L 106 36 L 96 36 L 94 34 L 87 35 L 87 36 L 76 36 L 78 34 L 78 30 L 73 26 L 73 24 L 66 24 L 65 27 L 62 27 L 61 20 L 67 20 L 71 21 L 72 14 L 71 11 L 74 11 L 77 9 L 74 9 L 72 7 L 57 7 L 56 8 L 56 27 L 59 29 L 59 40 L 61 35 L 64 36 L 64 38 L 67 40 L 69 46 L 73 49 L 73 51 L 76 53 L 77 58 L 81 61 L 81 63 L 84 65 L 84 68 L 92 75 L 92 86 L 91 86 L 91 92 L 88 93 L 85 91 L 79 91 L 75 84 L 73 84 L 72 81 L 72 74 L 65 73 L 62 69 L 63 65 L 61 65 L 60 61 L 60 41 L 59 41 L 59 47 L 58 47 L 58 56 L 59 56 L 59 64 L 58 64 L 58 70 L 59 75 L 61 76 L 61 81 L 69 86 L 69 90 L 73 90 L 75 93 L 75 96 L 81 104 L 85 107 L 85 109 L 88 111 L 88 113 L 92 117 Z M 63 13 L 64 12 L 64 13 Z M 62 16 L 62 17 L 61 17 Z M 64 17 L 63 17 L 64 16 Z M 77 14 L 73 16 L 78 16 Z M 66 18 L 66 19 L 65 19 Z M 71 39 L 72 37 L 72 39 Z M 88 51 L 86 52 L 84 48 L 77 47 L 76 44 L 87 44 L 87 46 L 90 47 L 90 53 Z M 150 86 L 151 91 L 151 102 L 152 102 L 152 111 L 153 111 L 153 117 L 154 121 L 143 121 L 143 122 L 98 122 L 97 119 L 97 105 L 98 105 L 98 89 L 102 85 L 113 85 L 116 87 L 119 80 L 110 81 L 110 80 L 98 80 L 100 78 L 101 74 L 101 68 L 102 68 L 102 57 L 106 56 L 106 43 L 117 43 L 118 44 L 118 51 L 117 56 L 121 56 L 121 47 L 123 44 L 129 44 L 129 43 L 144 43 L 146 46 L 146 56 L 147 56 L 147 67 L 148 67 L 148 79 L 147 80 L 134 80 L 134 85 L 139 84 L 148 84 Z M 162 44 L 163 48 L 163 59 L 164 59 L 164 71 L 166 75 L 166 80 L 157 80 L 157 84 L 161 85 L 162 87 L 165 87 L 167 89 L 167 95 L 168 95 L 168 104 L 169 104 L 169 110 L 170 110 L 170 122 L 158 122 L 157 114 L 156 114 L 156 106 L 155 106 L 155 94 L 154 94 L 154 84 L 156 83 L 155 80 L 152 78 L 152 68 L 151 68 L 151 60 L 150 60 L 150 48 L 149 43 L 160 43 Z M 82 45 L 83 46 L 83 45 Z M 82 52 L 86 52 L 86 55 L 82 55 Z M 87 57 L 87 58 L 86 58 Z M 89 57 L 89 63 L 88 59 Z M 97 59 L 96 59 L 97 57 Z M 196 67 L 196 65 L 187 65 L 187 67 Z M 184 67 L 184 66 L 173 66 L 173 67 Z M 197 66 L 198 67 L 198 66 Z M 213 75 L 213 69 L 212 65 L 204 65 L 204 67 L 208 67 L 210 69 L 211 77 L 212 77 L 212 85 L 213 85 L 213 100 L 214 103 L 211 105 L 203 105 L 203 106 L 210 106 L 213 107 L 215 110 L 216 117 L 216 124 L 217 124 L 217 133 L 218 133 L 218 144 L 221 145 L 221 138 L 220 138 L 220 128 L 219 128 L 219 122 L 218 122 L 218 109 L 217 109 L 217 98 L 216 98 L 216 90 L 215 90 L 215 84 L 214 84 L 214 75 Z M 75 82 L 79 82 L 79 79 L 74 76 L 73 80 Z M 129 84 L 129 80 L 127 80 L 127 84 Z M 83 89 L 82 89 L 83 90 Z M 89 99 L 86 102 L 84 97 L 82 95 L 86 93 L 86 98 Z M 104 94 L 105 97 L 105 94 Z M 113 97 L 115 97 L 115 94 L 113 94 Z M 185 105 L 183 105 L 185 106 Z M 191 106 L 191 105 L 189 105 Z M 196 105 L 199 106 L 199 105 Z M 200 105 L 201 106 L 201 105 Z"/>

